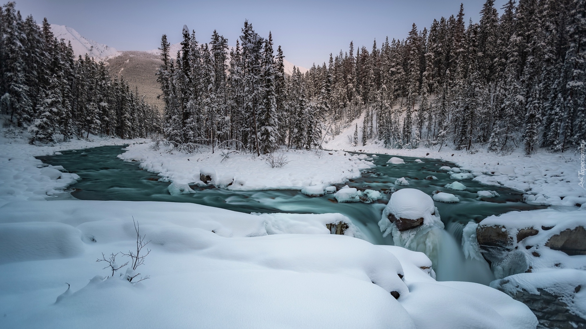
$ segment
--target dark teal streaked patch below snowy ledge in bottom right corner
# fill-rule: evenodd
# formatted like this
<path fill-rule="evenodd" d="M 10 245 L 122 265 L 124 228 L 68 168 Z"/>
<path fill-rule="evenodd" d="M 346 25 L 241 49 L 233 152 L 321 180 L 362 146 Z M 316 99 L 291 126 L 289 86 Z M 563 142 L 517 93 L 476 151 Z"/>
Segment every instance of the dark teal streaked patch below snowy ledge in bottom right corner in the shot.
<path fill-rule="evenodd" d="M 501 290 L 501 289 L 499 289 Z M 502 290 L 504 291 L 504 290 Z M 568 304 L 560 300 L 561 296 L 537 288 L 539 294 L 522 290 L 512 294 L 504 291 L 516 300 L 521 301 L 533 311 L 539 321 L 538 328 L 575 329 L 586 328 L 586 320 L 570 313 Z"/>

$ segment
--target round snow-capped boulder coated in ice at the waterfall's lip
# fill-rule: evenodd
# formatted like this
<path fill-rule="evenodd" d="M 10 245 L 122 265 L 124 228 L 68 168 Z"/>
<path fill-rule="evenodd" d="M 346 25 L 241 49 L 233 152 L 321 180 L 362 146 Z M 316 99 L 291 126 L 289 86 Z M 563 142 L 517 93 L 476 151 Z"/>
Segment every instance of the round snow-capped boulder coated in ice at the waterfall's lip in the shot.
<path fill-rule="evenodd" d="M 423 252 L 437 264 L 444 224 L 434 201 L 423 191 L 402 189 L 391 194 L 379 228 L 383 237 L 393 235 L 395 245 Z"/>

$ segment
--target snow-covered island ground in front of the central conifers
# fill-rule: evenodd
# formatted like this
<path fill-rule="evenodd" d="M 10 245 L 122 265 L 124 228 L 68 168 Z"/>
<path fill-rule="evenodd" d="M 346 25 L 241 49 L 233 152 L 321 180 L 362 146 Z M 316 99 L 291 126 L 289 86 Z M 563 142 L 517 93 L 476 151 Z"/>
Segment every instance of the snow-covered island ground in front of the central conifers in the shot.
<path fill-rule="evenodd" d="M 284 155 L 289 163 L 271 168 L 263 156 L 239 153 L 227 156 L 225 152 L 185 154 L 171 147 L 152 150 L 151 146 L 152 143 L 134 144 L 118 157 L 141 162 L 142 169 L 159 174 L 163 181 L 197 183 L 200 174 L 210 174 L 214 186 L 228 190 L 301 190 L 322 184 L 330 186 L 360 177 L 361 169 L 375 166 L 346 152 L 287 150 Z"/>

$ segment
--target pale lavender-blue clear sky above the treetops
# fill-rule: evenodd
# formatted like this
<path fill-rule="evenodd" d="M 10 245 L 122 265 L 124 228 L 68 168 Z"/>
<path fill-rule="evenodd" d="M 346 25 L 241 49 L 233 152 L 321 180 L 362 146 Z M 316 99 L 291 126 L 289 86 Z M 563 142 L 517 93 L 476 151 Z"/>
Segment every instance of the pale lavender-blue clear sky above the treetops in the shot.
<path fill-rule="evenodd" d="M 248 19 L 261 36 L 272 32 L 275 49 L 281 45 L 288 61 L 309 68 L 327 62 L 330 53 L 347 52 L 351 40 L 355 49 L 370 51 L 374 39 L 380 46 L 387 36 L 407 37 L 413 23 L 429 28 L 434 18 L 456 15 L 461 2 L 466 22 L 478 22 L 485 0 L 16 0 L 16 8 L 38 23 L 46 17 L 118 50 L 156 49 L 163 34 L 180 42 L 184 24 L 199 42 L 209 42 L 215 29 L 234 46 Z M 495 0 L 499 12 L 505 3 Z"/>

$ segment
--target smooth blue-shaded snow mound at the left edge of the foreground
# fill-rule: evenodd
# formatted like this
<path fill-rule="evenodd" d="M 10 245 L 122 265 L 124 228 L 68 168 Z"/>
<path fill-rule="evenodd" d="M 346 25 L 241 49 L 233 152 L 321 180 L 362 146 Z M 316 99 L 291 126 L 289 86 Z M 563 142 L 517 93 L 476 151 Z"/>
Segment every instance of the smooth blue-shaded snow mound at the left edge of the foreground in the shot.
<path fill-rule="evenodd" d="M 81 232 L 71 225 L 58 222 L 0 224 L 0 263 L 70 258 L 83 253 L 83 249 Z"/>

